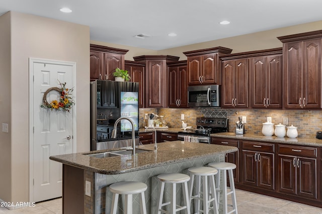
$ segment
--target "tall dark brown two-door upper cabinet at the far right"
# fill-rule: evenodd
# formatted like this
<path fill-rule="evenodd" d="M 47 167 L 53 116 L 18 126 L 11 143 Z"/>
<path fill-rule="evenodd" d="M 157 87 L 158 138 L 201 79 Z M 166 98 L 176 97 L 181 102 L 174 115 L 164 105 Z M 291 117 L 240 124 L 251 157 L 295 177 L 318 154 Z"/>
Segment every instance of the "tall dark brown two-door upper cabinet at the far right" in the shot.
<path fill-rule="evenodd" d="M 283 108 L 321 109 L 322 31 L 278 39 L 283 43 Z"/>

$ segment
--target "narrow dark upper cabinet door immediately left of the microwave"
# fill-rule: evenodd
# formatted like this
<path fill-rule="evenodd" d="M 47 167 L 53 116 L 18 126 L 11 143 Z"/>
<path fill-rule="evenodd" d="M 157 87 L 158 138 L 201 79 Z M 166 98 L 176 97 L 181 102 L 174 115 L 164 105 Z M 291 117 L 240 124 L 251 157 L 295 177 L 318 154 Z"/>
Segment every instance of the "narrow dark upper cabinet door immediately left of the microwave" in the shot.
<path fill-rule="evenodd" d="M 178 80 L 179 80 L 179 104 L 180 108 L 188 107 L 188 84 L 187 84 L 187 66 L 178 67 Z"/>

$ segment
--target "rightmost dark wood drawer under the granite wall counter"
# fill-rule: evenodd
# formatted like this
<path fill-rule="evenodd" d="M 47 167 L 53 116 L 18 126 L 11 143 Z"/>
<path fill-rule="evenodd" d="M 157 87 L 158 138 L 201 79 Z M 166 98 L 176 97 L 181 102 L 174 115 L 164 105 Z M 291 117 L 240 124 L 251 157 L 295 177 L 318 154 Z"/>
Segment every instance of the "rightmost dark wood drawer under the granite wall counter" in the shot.
<path fill-rule="evenodd" d="M 278 145 L 278 153 L 295 156 L 317 157 L 317 148 L 292 145 Z"/>

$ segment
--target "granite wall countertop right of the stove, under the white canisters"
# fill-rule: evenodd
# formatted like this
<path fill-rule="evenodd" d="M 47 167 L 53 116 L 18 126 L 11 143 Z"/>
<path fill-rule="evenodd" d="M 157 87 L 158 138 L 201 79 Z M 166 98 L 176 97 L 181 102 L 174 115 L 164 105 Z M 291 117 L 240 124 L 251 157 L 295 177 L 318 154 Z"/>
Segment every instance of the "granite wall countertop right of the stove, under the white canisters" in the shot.
<path fill-rule="evenodd" d="M 286 143 L 286 144 L 297 144 L 297 145 L 307 145 L 307 146 L 322 146 L 322 140 L 316 138 L 304 138 L 304 137 L 297 137 L 297 138 L 288 138 L 288 137 L 266 137 L 262 134 L 255 135 L 255 134 L 235 134 L 234 132 L 223 132 L 223 133 L 216 133 L 210 134 L 211 137 L 224 137 L 224 138 L 232 138 L 232 139 L 239 139 L 239 140 L 258 140 L 264 142 L 275 142 L 275 143 Z"/>

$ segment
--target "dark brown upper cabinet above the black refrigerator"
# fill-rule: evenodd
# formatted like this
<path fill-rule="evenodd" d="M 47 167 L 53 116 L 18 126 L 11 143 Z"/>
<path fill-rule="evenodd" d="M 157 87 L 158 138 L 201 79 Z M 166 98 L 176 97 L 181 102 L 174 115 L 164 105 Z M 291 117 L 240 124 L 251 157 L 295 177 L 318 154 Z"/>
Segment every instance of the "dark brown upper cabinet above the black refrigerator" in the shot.
<path fill-rule="evenodd" d="M 115 80 L 116 68 L 124 69 L 124 55 L 128 50 L 90 45 L 90 79 Z"/>

